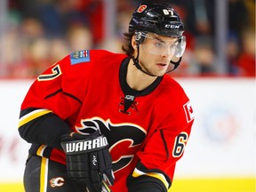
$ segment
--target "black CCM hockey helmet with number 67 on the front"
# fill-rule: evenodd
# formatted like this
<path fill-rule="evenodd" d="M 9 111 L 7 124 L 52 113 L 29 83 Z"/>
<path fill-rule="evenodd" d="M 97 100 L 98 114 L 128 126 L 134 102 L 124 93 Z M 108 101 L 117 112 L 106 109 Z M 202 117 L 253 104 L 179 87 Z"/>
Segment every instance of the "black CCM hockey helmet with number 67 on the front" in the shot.
<path fill-rule="evenodd" d="M 157 1 L 143 1 L 133 12 L 129 32 L 144 31 L 160 36 L 180 37 L 184 25 L 173 8 Z"/>

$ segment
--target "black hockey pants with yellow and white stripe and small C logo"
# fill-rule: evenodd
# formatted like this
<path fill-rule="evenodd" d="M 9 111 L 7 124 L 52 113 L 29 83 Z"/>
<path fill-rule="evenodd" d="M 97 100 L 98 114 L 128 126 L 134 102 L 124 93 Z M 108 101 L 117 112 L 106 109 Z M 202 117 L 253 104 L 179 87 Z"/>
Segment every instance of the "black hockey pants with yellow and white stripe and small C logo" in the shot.
<path fill-rule="evenodd" d="M 66 166 L 41 156 L 29 156 L 24 172 L 25 192 L 86 192 L 67 175 Z"/>

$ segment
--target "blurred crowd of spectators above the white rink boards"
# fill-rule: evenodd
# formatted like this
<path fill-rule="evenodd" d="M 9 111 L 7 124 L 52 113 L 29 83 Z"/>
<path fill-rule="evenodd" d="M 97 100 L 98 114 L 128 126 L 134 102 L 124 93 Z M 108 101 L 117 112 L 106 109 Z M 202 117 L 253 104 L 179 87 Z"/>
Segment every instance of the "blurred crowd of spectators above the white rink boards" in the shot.
<path fill-rule="evenodd" d="M 216 70 L 216 1 L 168 1 L 180 13 L 187 36 L 182 64 L 172 76 L 220 76 Z M 224 76 L 255 76 L 255 0 L 227 1 Z M 34 78 L 76 50 L 122 52 L 123 33 L 140 4 L 139 0 L 115 1 L 115 34 L 109 39 L 108 23 L 104 23 L 106 0 L 7 2 L 6 30 L 0 36 L 2 78 Z"/>

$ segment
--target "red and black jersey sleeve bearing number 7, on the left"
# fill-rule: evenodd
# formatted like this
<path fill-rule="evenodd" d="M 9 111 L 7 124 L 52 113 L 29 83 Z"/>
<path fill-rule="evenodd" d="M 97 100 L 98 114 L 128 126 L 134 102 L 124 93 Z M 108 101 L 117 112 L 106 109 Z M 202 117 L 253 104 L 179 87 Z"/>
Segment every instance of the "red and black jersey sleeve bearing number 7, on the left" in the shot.
<path fill-rule="evenodd" d="M 88 57 L 74 52 L 37 77 L 20 108 L 19 132 L 24 140 L 60 148 L 60 136 L 71 132 L 70 124 L 82 105 L 86 81 L 80 74 L 84 71 L 86 76 L 86 66 Z"/>

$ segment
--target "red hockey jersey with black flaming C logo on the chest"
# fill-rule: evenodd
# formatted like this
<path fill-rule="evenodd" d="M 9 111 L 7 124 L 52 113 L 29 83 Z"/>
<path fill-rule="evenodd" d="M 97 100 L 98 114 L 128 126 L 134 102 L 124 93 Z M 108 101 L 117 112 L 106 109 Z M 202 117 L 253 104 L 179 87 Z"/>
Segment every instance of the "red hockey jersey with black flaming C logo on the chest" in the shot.
<path fill-rule="evenodd" d="M 20 127 L 54 113 L 72 131 L 100 129 L 113 160 L 114 192 L 127 191 L 128 175 L 154 177 L 170 188 L 194 121 L 193 109 L 180 84 L 168 75 L 143 91 L 132 90 L 125 81 L 128 61 L 124 54 L 100 50 L 68 55 L 32 84 L 21 111 L 36 109 L 20 116 Z M 65 164 L 62 150 L 47 148 L 38 145 L 36 155 Z M 148 171 L 136 167 L 139 161 Z"/>

